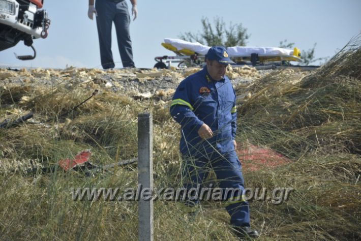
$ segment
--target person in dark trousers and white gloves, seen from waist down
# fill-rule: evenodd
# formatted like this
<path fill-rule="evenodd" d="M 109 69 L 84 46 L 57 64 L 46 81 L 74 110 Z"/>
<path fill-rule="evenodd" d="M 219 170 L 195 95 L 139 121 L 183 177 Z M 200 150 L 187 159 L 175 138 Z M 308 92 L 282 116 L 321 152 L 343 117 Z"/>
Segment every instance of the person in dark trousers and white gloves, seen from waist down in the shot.
<path fill-rule="evenodd" d="M 113 54 L 111 52 L 111 26 L 114 22 L 119 53 L 123 67 L 134 68 L 132 41 L 130 40 L 130 16 L 126 0 L 89 0 L 88 17 L 93 20 L 97 16 L 97 28 L 100 45 L 100 59 L 103 69 L 114 68 Z M 137 0 L 132 3 L 133 21 L 138 16 Z"/>

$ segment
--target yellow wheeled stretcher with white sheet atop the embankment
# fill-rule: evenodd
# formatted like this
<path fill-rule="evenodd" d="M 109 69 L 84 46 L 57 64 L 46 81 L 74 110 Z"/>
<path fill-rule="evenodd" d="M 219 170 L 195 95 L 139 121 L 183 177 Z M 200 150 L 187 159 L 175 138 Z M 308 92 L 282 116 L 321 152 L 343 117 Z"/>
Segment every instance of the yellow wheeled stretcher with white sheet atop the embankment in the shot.
<path fill-rule="evenodd" d="M 176 54 L 176 56 L 158 56 L 155 68 L 167 68 L 171 63 L 178 63 L 182 66 L 198 66 L 204 63 L 205 54 L 209 46 L 192 43 L 181 39 L 164 39 L 162 46 Z M 298 48 L 285 49 L 278 47 L 245 47 L 235 46 L 227 48 L 228 55 L 236 65 L 264 65 L 267 63 L 278 62 L 280 65 L 284 62 L 294 61 L 302 62 L 300 50 Z"/>

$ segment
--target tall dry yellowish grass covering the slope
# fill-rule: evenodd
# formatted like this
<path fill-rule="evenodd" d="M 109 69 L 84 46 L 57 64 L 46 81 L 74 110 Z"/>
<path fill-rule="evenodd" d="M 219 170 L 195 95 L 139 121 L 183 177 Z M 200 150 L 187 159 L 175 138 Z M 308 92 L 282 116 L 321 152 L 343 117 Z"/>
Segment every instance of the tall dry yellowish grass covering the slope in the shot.
<path fill-rule="evenodd" d="M 238 106 L 237 141 L 268 146 L 293 160 L 273 170 L 244 173 L 250 188 L 295 189 L 280 205 L 251 202 L 252 225 L 261 231 L 260 240 L 361 239 L 357 41 L 349 44 L 357 48 L 345 48 L 316 72 L 274 72 L 237 88 L 238 94 L 251 93 Z M 95 164 L 134 157 L 137 114 L 144 110 L 154 115 L 155 186 L 180 186 L 179 128 L 169 106 L 101 91 L 72 111 L 92 91 L 67 84 L 1 88 L 1 116 L 16 118 L 32 111 L 37 124 L 0 129 L 0 239 L 136 240 L 137 202 L 73 201 L 70 192 L 78 187 L 136 187 L 136 170 L 119 167 L 93 177 L 57 168 L 51 173 L 23 170 L 32 163 L 54 165 L 84 149 L 92 150 Z M 39 123 L 45 120 L 49 122 Z M 154 214 L 156 240 L 236 240 L 217 202 L 203 203 L 194 219 L 175 202 L 155 202 Z"/>

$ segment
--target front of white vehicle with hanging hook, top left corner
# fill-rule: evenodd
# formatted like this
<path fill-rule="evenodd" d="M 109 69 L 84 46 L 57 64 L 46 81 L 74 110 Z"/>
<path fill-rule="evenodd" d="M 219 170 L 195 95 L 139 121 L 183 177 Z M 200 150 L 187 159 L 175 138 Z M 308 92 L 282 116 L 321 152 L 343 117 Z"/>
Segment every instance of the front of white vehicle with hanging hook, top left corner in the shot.
<path fill-rule="evenodd" d="M 23 40 L 34 55 L 15 56 L 21 60 L 34 59 L 33 39 L 48 36 L 50 19 L 43 7 L 44 0 L 0 0 L 0 51 Z"/>

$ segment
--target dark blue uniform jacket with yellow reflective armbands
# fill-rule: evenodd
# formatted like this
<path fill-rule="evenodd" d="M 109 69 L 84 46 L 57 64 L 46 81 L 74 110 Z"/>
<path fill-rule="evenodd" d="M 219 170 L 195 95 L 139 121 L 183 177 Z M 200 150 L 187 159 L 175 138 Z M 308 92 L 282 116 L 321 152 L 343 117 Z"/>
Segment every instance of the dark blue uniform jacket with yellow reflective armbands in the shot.
<path fill-rule="evenodd" d="M 206 67 L 184 79 L 177 87 L 170 106 L 170 114 L 181 124 L 183 155 L 208 157 L 216 150 L 225 154 L 234 150 L 236 133 L 235 92 L 229 79 L 213 80 Z M 213 137 L 203 140 L 198 135 L 205 123 Z"/>

